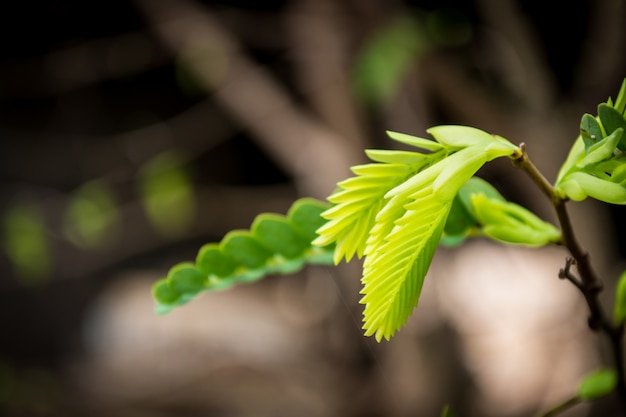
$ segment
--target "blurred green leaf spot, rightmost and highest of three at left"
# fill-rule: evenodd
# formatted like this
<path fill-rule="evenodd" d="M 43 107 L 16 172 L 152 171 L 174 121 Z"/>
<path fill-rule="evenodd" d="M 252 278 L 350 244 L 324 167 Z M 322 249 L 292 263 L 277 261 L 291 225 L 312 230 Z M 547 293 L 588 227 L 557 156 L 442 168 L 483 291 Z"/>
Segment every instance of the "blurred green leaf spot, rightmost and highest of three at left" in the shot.
<path fill-rule="evenodd" d="M 146 214 L 159 233 L 176 237 L 189 230 L 196 201 L 180 155 L 168 151 L 150 160 L 141 170 L 139 186 Z"/>

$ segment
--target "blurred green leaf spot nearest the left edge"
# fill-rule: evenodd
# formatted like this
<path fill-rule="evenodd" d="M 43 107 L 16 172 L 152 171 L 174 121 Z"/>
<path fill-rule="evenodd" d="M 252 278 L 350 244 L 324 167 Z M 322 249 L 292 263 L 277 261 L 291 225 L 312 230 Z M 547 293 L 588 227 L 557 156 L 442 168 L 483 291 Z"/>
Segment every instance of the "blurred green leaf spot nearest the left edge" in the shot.
<path fill-rule="evenodd" d="M 39 285 L 52 269 L 52 254 L 44 220 L 37 207 L 18 202 L 3 216 L 4 247 L 15 274 L 24 285 Z"/>

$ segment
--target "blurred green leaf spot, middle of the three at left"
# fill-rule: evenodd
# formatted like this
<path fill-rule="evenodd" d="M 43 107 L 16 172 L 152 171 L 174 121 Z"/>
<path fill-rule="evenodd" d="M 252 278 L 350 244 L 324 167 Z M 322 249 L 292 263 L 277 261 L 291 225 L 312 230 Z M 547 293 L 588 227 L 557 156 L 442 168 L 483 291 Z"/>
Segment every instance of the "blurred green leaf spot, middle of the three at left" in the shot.
<path fill-rule="evenodd" d="M 101 182 L 89 182 L 74 192 L 64 219 L 64 232 L 76 246 L 110 244 L 119 227 L 113 193 Z"/>

